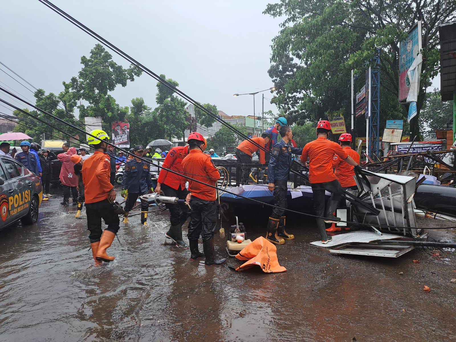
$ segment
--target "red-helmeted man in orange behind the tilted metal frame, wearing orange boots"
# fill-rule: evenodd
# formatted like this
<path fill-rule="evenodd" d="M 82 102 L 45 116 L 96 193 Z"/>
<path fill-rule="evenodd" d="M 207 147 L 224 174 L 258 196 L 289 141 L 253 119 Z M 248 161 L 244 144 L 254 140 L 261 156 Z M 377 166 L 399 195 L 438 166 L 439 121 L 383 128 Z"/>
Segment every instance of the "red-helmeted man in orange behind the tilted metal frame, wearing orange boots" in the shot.
<path fill-rule="evenodd" d="M 341 145 L 342 150 L 347 153 L 348 156 L 352 157 L 354 161 L 359 164 L 359 155 L 356 151 L 352 150 L 351 148 L 352 143 L 352 135 L 350 133 L 342 133 L 339 137 L 339 145 Z M 336 175 L 337 180 L 339 181 L 342 189 L 344 190 L 356 190 L 356 181 L 355 181 L 355 170 L 354 167 L 348 164 L 346 161 L 343 161 L 339 158 L 338 155 L 334 155 L 332 160 L 332 168 L 334 170 L 334 174 Z M 345 202 L 342 200 L 341 202 Z M 349 230 L 350 228 L 346 227 L 345 230 Z M 342 228 L 337 227 L 335 224 L 332 225 L 331 228 L 327 228 L 326 232 L 338 232 L 342 230 Z"/>

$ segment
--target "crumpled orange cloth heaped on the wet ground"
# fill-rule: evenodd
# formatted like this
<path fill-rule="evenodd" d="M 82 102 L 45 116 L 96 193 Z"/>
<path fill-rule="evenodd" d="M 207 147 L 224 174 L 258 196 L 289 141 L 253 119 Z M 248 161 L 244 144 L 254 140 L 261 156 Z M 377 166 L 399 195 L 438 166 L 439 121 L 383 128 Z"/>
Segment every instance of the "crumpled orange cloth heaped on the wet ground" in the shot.
<path fill-rule="evenodd" d="M 244 271 L 255 265 L 261 267 L 264 273 L 285 272 L 286 268 L 280 266 L 277 259 L 277 248 L 264 237 L 260 236 L 244 247 L 237 255 L 239 260 L 248 260 L 236 270 Z"/>

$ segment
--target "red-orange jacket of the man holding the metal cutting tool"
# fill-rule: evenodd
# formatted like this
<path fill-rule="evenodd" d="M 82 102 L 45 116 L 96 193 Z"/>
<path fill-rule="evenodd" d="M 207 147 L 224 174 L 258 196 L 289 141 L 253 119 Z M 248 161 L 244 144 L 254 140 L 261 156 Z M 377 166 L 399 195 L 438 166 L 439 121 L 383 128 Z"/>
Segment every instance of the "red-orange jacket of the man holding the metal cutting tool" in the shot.
<path fill-rule="evenodd" d="M 169 153 L 165 157 L 165 161 L 163 162 L 163 167 L 170 169 L 172 171 L 176 171 L 178 173 L 182 173 L 182 161 L 188 155 L 189 146 L 177 146 L 173 147 Z M 190 175 L 190 177 L 192 177 Z M 175 173 L 168 172 L 165 169 L 161 169 L 160 175 L 158 176 L 157 182 L 161 184 L 166 184 L 168 187 L 172 187 L 173 189 L 185 189 L 185 183 L 187 179 L 182 176 L 177 176 Z"/>

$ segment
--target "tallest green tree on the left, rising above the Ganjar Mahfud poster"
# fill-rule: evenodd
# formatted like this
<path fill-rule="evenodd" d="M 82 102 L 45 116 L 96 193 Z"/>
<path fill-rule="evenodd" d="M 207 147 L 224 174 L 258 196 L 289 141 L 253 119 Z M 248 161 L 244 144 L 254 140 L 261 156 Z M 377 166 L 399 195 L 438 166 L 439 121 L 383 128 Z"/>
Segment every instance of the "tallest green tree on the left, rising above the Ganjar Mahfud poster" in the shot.
<path fill-rule="evenodd" d="M 104 128 L 110 130 L 110 125 L 116 121 L 123 121 L 128 114 L 128 107 L 120 107 L 109 94 L 118 85 L 125 87 L 127 82 L 134 81 L 142 71 L 130 65 L 125 69 L 113 61 L 112 55 L 101 44 L 95 45 L 90 51 L 90 57 L 81 57 L 83 68 L 78 77 L 71 78 L 72 89 L 70 100 L 85 100 L 88 105 L 80 104 L 79 118 L 85 116 L 101 117 Z M 65 89 L 67 84 L 64 83 Z M 68 95 L 69 96 L 69 95 Z"/>

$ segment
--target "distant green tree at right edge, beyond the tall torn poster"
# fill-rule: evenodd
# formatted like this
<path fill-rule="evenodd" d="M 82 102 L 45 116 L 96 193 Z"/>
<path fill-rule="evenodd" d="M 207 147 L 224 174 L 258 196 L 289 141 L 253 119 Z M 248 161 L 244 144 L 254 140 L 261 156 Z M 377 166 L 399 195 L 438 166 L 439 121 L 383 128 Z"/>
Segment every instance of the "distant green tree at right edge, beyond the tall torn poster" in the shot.
<path fill-rule="evenodd" d="M 442 102 L 440 91 L 427 93 L 420 115 L 421 131 L 444 129 L 449 121 L 453 122 L 453 101 Z"/>

